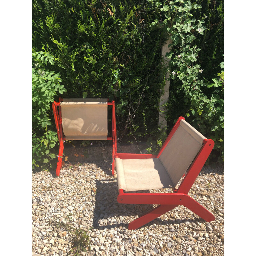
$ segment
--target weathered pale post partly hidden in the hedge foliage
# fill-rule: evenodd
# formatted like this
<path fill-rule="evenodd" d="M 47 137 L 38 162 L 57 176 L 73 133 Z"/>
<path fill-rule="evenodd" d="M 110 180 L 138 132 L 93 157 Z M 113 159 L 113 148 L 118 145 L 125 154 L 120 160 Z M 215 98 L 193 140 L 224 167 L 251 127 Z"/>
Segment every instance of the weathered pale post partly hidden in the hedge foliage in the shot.
<path fill-rule="evenodd" d="M 162 47 L 162 57 L 163 57 L 163 65 L 168 65 L 170 59 L 165 57 L 166 52 L 170 52 L 168 45 L 171 44 L 171 40 L 167 40 L 164 46 Z M 170 80 L 168 78 L 170 77 L 170 71 L 167 71 L 165 75 L 165 86 L 164 86 L 164 94 L 161 96 L 161 99 L 159 101 L 159 119 L 158 119 L 158 125 L 164 129 L 167 125 L 167 121 L 165 119 L 165 111 L 164 104 L 169 99 L 169 87 L 170 87 Z"/>

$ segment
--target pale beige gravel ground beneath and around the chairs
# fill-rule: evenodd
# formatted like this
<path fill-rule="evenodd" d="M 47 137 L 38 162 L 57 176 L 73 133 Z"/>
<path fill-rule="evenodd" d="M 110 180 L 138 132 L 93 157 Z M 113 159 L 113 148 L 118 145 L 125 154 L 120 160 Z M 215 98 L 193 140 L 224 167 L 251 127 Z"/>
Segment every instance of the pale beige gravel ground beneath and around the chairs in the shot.
<path fill-rule="evenodd" d="M 117 203 L 117 180 L 108 162 L 66 164 L 58 178 L 54 172 L 34 172 L 32 190 L 33 256 L 68 255 L 73 234 L 51 223 L 57 219 L 76 229 L 93 227 L 87 232 L 91 251 L 82 255 L 224 255 L 221 165 L 204 166 L 188 193 L 214 214 L 211 223 L 179 206 L 138 230 L 128 230 L 129 222 L 153 206 Z"/>

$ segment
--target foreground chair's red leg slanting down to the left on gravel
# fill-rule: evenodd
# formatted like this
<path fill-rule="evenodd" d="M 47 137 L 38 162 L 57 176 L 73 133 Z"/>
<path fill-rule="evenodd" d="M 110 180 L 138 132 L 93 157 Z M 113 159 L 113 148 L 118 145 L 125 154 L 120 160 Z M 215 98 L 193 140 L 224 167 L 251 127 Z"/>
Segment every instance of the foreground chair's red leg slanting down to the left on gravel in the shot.
<path fill-rule="evenodd" d="M 154 209 L 150 210 L 149 212 L 145 213 L 143 216 L 140 218 L 133 220 L 129 226 L 128 229 L 137 229 L 142 227 L 143 225 L 147 224 L 151 220 L 155 220 L 156 218 L 160 217 L 166 212 L 171 211 L 178 205 L 169 205 L 169 204 L 163 204 L 163 205 L 158 205 Z"/>

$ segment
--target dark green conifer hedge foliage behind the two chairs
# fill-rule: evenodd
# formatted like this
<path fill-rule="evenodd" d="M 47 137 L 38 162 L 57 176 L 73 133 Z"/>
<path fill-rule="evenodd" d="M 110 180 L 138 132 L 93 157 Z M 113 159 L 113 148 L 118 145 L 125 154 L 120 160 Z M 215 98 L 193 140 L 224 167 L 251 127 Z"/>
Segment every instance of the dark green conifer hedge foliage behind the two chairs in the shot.
<path fill-rule="evenodd" d="M 200 4 L 198 3 L 200 1 L 195 2 Z M 219 85 L 218 87 L 213 85 L 216 92 L 208 86 L 211 86 L 212 78 L 217 79 L 217 84 L 222 82 L 220 77 L 217 77 L 217 73 L 221 73 L 222 70 L 220 63 L 223 62 L 222 2 L 210 0 L 201 2 L 203 8 L 198 8 L 197 4 L 191 4 L 188 1 L 33 0 L 33 58 L 37 56 L 35 53 L 40 52 L 46 57 L 52 56 L 50 60 L 54 61 L 54 65 L 51 62 L 41 61 L 39 73 L 42 70 L 43 72 L 49 69 L 54 70 L 52 72 L 60 75 L 62 79 L 60 91 L 58 88 L 56 93 L 52 94 L 51 101 L 57 100 L 61 94 L 69 98 L 87 95 L 92 98 L 114 99 L 120 140 L 147 140 L 150 136 L 153 141 L 161 141 L 162 135 L 158 132 L 157 126 L 158 101 L 165 84 L 166 73 L 166 68 L 161 63 L 161 47 L 172 35 L 172 30 L 168 28 L 172 28 L 177 23 L 174 19 L 175 13 L 176 17 L 180 17 L 186 9 L 187 14 L 182 18 L 183 21 L 187 22 L 187 19 L 192 17 L 190 17 L 191 14 L 196 20 L 204 22 L 204 33 L 199 35 L 197 35 L 198 31 L 192 33 L 197 35 L 191 42 L 192 46 L 197 44 L 197 49 L 201 48 L 199 55 L 195 55 L 197 60 L 192 64 L 198 63 L 197 65 L 204 69 L 200 76 L 203 82 L 196 91 L 203 93 L 207 99 L 211 99 L 214 93 L 221 94 Z M 185 9 L 179 11 L 180 7 Z M 170 11 L 172 8 L 174 8 L 173 11 Z M 198 28 L 198 21 L 194 23 L 195 28 Z M 191 34 L 190 31 L 188 34 Z M 182 48 L 179 42 L 175 47 Z M 170 46 L 171 51 L 173 49 Z M 174 60 L 173 57 L 170 54 L 171 60 Z M 178 63 L 178 61 L 175 62 L 176 64 L 174 62 L 170 62 L 171 71 Z M 178 70 L 176 74 L 177 72 Z M 198 80 L 195 77 L 193 79 Z M 203 125 L 212 127 L 207 124 L 209 118 L 203 117 L 205 111 L 203 108 L 202 115 L 199 115 L 198 109 L 191 107 L 192 104 L 198 107 L 202 104 L 201 101 L 193 102 L 192 94 L 185 101 L 185 95 L 189 95 L 186 94 L 188 90 L 185 87 L 182 87 L 182 79 L 172 77 L 170 100 L 166 106 L 167 132 L 179 116 L 186 115 L 189 118 L 189 113 L 190 119 L 193 116 L 191 121 L 195 128 L 198 128 L 196 122 L 202 119 Z M 177 88 L 180 88 L 179 93 Z M 39 93 L 38 90 L 35 93 Z M 194 112 L 191 113 L 191 109 L 197 115 Z M 50 108 L 46 110 L 45 115 L 49 119 L 47 122 L 52 124 Z M 51 124 L 48 124 L 49 128 L 55 132 Z M 45 136 L 44 130 L 40 130 L 37 125 L 33 125 L 34 127 L 35 138 Z M 211 128 L 207 130 L 207 127 L 205 132 L 202 131 L 204 134 L 207 133 L 205 136 L 212 136 L 215 141 L 220 139 L 215 136 Z M 223 128 L 218 126 L 218 130 L 221 133 Z M 49 133 L 49 130 L 47 132 Z M 38 144 L 39 140 L 35 145 L 36 143 Z M 158 144 L 161 145 L 161 143 Z M 217 145 L 216 149 L 221 152 L 223 146 Z M 153 151 L 152 147 L 151 151 Z M 53 151 L 50 150 L 48 154 L 52 154 L 51 152 Z M 34 165 L 42 166 L 40 164 L 42 159 L 35 160 Z M 47 162 L 47 160 L 44 161 Z"/>

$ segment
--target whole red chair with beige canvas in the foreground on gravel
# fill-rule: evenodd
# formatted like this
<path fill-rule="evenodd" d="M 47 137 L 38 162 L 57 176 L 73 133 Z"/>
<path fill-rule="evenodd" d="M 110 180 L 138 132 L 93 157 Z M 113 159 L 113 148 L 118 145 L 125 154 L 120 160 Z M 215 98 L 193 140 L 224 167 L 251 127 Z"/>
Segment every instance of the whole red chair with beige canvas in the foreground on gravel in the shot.
<path fill-rule="evenodd" d="M 117 201 L 121 204 L 158 204 L 132 221 L 128 229 L 140 228 L 178 205 L 186 206 L 208 222 L 215 220 L 211 212 L 188 196 L 213 146 L 213 140 L 206 139 L 180 117 L 158 155 L 116 154 Z M 180 186 L 175 189 L 182 177 Z M 128 193 L 160 188 L 171 188 L 173 193 Z"/>

